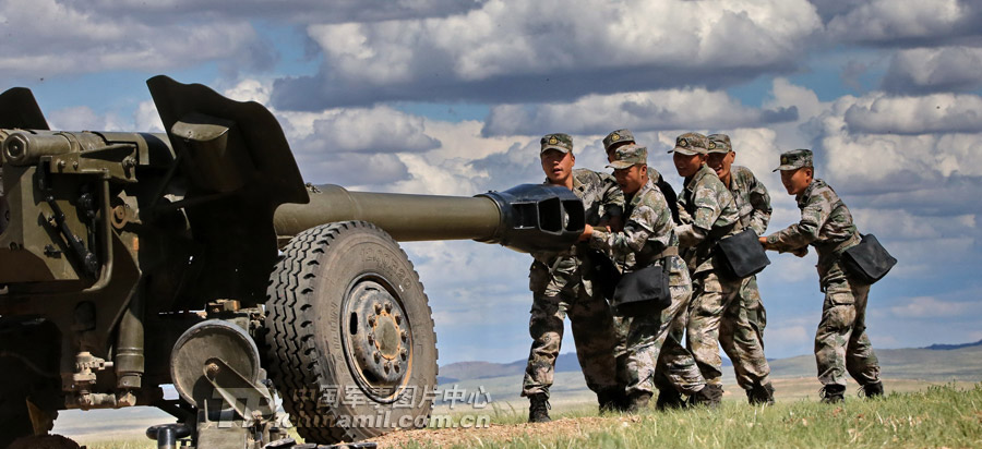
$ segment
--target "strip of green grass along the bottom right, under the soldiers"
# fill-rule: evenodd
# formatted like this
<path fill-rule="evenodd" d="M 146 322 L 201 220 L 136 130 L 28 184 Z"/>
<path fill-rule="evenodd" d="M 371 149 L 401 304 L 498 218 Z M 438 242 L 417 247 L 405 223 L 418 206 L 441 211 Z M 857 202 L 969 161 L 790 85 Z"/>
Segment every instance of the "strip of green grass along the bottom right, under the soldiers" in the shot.
<path fill-rule="evenodd" d="M 926 391 L 891 393 L 881 400 L 850 397 L 843 405 L 811 401 L 779 402 L 752 408 L 724 402 L 718 411 L 706 409 L 636 416 L 615 415 L 589 420 L 589 425 L 564 417 L 582 417 L 582 411 L 536 432 L 495 433 L 472 430 L 451 446 L 502 448 L 785 448 L 785 447 L 982 447 L 982 384 L 965 390 L 953 385 Z M 568 422 L 568 424 L 565 424 Z M 426 433 L 403 448 L 436 447 Z M 445 442 L 445 441 L 441 441 Z"/>

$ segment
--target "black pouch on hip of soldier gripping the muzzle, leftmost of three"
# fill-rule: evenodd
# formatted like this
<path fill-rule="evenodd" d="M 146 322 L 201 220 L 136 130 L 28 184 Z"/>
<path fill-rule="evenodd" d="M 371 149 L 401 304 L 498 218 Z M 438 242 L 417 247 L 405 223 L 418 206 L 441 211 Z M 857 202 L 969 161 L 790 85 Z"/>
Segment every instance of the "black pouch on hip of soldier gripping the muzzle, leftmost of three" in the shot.
<path fill-rule="evenodd" d="M 664 263 L 625 272 L 610 300 L 618 316 L 657 314 L 671 304 L 669 271 Z"/>

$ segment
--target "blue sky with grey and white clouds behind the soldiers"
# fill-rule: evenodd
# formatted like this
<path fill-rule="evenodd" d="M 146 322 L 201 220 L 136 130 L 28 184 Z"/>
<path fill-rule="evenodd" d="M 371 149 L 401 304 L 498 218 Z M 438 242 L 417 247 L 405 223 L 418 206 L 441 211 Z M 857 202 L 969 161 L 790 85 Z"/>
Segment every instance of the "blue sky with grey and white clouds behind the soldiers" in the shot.
<path fill-rule="evenodd" d="M 160 131 L 145 80 L 206 84 L 273 110 L 307 181 L 366 191 L 540 182 L 551 132 L 602 170 L 619 128 L 678 186 L 674 137 L 723 132 L 770 187 L 771 231 L 799 216 L 770 169 L 812 148 L 900 259 L 872 291 L 874 347 L 920 347 L 982 339 L 980 22 L 978 0 L 3 0 L 0 87 L 32 88 L 56 129 Z M 527 356 L 529 256 L 405 246 L 441 363 Z M 815 256 L 771 259 L 767 355 L 811 353 Z"/>

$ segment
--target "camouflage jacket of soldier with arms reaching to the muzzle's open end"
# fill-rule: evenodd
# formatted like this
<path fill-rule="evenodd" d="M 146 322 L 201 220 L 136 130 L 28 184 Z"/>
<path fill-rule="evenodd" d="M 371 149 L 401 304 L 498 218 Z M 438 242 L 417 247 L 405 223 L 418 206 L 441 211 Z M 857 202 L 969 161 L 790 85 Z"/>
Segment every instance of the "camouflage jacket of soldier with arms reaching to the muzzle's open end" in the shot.
<path fill-rule="evenodd" d="M 667 248 L 679 246 L 668 203 L 650 180 L 628 199 L 624 215 L 623 231 L 595 228 L 589 240 L 591 247 L 607 253 L 622 271 L 650 265 Z"/>

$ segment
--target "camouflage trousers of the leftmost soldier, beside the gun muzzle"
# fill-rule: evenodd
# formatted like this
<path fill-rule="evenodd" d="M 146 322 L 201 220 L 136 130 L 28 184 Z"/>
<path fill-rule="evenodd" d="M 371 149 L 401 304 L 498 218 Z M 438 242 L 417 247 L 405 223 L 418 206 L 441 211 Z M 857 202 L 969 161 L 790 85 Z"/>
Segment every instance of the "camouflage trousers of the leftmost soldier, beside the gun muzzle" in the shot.
<path fill-rule="evenodd" d="M 586 290 L 582 282 L 570 282 L 558 292 L 549 289 L 534 292 L 528 321 L 532 344 L 522 396 L 546 393 L 548 397 L 566 316 L 587 387 L 595 392 L 618 388 L 613 316 L 607 300 L 600 294 L 587 294 Z"/>

